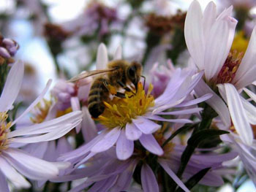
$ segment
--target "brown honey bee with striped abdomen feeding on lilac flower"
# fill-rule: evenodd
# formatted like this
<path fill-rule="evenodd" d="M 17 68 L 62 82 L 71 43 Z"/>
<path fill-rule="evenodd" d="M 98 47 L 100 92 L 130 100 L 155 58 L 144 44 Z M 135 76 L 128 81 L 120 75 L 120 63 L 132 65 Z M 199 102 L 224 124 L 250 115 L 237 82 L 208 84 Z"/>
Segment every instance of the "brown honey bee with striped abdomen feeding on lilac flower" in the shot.
<path fill-rule="evenodd" d="M 89 93 L 89 112 L 93 118 L 98 118 L 99 115 L 104 112 L 104 101 L 109 101 L 110 94 L 125 98 L 124 93 L 116 91 L 118 88 L 123 88 L 125 91 L 135 94 L 131 88 L 127 87 L 127 85 L 133 85 L 137 92 L 140 77 L 144 78 L 145 85 L 145 77 L 141 75 L 141 72 L 142 66 L 136 61 L 129 63 L 124 60 L 116 60 L 110 61 L 107 69 L 79 74 L 77 77 L 73 77 L 69 80 L 69 82 L 75 82 L 95 74 L 102 74 L 92 82 Z"/>

